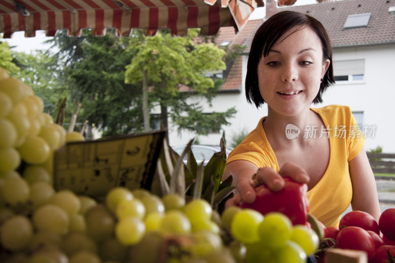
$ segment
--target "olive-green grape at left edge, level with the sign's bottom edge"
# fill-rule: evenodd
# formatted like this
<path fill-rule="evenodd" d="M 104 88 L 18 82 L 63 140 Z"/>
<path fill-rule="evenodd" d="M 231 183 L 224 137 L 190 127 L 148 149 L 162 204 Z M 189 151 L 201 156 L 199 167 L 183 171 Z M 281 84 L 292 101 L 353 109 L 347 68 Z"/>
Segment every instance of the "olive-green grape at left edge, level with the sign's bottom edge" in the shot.
<path fill-rule="evenodd" d="M 30 187 L 22 177 L 9 177 L 2 186 L 2 197 L 11 206 L 26 203 L 30 196 Z"/>

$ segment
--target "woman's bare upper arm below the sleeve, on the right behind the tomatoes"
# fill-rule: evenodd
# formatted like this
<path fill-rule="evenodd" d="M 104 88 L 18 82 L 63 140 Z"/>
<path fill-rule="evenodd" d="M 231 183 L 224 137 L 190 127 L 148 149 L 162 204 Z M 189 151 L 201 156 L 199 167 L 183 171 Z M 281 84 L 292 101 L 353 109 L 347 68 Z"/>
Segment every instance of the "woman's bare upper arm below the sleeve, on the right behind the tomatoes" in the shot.
<path fill-rule="evenodd" d="M 353 210 L 371 214 L 377 221 L 381 215 L 376 182 L 370 167 L 366 151 L 362 148 L 358 155 L 349 162 L 351 183 L 353 184 Z"/>

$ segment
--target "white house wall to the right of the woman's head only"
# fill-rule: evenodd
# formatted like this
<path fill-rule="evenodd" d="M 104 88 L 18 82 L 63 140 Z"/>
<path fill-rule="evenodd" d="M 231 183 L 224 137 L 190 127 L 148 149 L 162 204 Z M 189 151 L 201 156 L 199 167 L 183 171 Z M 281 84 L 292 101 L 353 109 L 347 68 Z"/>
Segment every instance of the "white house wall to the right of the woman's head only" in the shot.
<path fill-rule="evenodd" d="M 363 125 L 376 125 L 374 138 L 366 138 L 365 149 L 383 147 L 395 152 L 395 45 L 335 48 L 333 60 L 365 59 L 365 81 L 335 84 L 323 95 L 322 105 L 350 106 L 363 112 Z"/>

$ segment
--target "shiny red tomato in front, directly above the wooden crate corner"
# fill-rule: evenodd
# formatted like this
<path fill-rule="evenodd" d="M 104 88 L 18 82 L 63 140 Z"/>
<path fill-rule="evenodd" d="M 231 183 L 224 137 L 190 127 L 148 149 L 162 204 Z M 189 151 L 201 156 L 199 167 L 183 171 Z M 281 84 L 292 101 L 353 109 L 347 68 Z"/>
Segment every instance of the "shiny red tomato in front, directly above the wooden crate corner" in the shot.
<path fill-rule="evenodd" d="M 342 249 L 363 250 L 368 260 L 374 253 L 374 242 L 369 233 L 359 226 L 347 226 L 340 229 L 336 237 L 336 247 Z"/>

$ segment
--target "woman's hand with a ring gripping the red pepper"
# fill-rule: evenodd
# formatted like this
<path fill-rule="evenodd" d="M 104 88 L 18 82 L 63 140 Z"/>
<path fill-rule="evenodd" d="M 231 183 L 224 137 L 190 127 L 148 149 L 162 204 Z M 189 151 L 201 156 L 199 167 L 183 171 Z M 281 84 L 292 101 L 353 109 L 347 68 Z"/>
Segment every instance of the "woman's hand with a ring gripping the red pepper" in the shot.
<path fill-rule="evenodd" d="M 237 193 L 231 199 L 229 199 L 225 206 L 229 207 L 232 205 L 238 206 L 241 201 L 252 203 L 255 201 L 258 191 L 255 190 L 257 186 L 266 185 L 273 191 L 279 191 L 284 187 L 283 177 L 290 177 L 294 181 L 307 184 L 310 180 L 308 174 L 299 166 L 292 163 L 285 163 L 278 173 L 271 167 L 263 167 L 257 169 L 255 165 L 255 175 L 251 176 L 253 167 L 247 165 L 246 161 L 231 162 L 226 167 L 226 172 L 231 172 L 234 175 L 234 185 L 236 186 Z M 240 166 L 241 165 L 241 166 Z M 234 170 L 235 172 L 233 172 Z"/>

